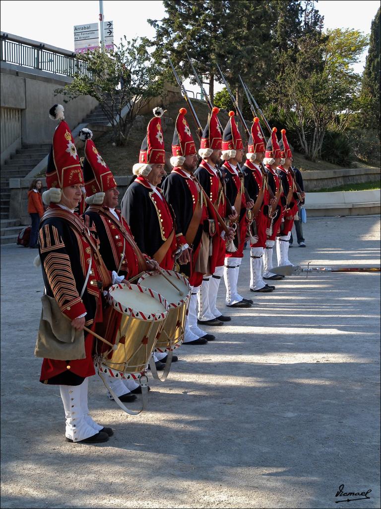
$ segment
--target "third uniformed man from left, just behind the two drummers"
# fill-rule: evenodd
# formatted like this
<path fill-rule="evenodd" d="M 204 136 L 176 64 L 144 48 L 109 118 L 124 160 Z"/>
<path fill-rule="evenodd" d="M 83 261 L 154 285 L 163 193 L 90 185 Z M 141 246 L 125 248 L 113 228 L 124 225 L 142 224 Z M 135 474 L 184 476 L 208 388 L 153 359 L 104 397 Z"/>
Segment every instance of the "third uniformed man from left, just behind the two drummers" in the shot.
<path fill-rule="evenodd" d="M 147 126 L 139 155 L 139 162 L 134 164 L 133 173 L 136 179 L 126 190 L 121 201 L 121 213 L 130 225 L 135 242 L 140 250 L 161 268 L 173 270 L 176 254 L 181 253 L 174 227 L 174 214 L 168 205 L 162 189 L 158 187 L 166 175 L 164 138 L 161 117 L 162 108 L 154 108 L 154 117 Z M 167 354 L 156 353 L 159 361 Z M 177 357 L 172 357 L 172 362 Z M 156 359 L 155 359 L 156 361 Z M 163 369 L 157 361 L 156 367 Z"/>

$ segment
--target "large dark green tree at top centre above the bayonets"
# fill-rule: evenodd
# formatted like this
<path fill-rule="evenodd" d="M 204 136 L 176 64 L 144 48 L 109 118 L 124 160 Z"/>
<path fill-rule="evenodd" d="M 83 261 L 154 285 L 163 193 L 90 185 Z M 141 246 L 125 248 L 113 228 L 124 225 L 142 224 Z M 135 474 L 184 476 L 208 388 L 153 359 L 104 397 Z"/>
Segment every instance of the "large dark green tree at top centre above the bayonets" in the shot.
<path fill-rule="evenodd" d="M 182 75 L 195 83 L 185 57 L 188 52 L 200 78 L 205 76 L 209 81 L 212 101 L 214 79 L 222 82 L 216 64 L 226 74 L 234 94 L 238 90 L 239 72 L 246 79 L 256 76 L 258 86 L 265 83 L 271 28 L 270 8 L 266 2 L 165 0 L 163 4 L 166 17 L 148 20 L 156 30 L 152 44 L 156 46 L 153 54 L 158 61 L 163 62 L 163 49 L 166 49 Z M 253 64 L 247 65 L 249 62 Z M 164 65 L 168 72 L 168 64 Z M 237 97 L 241 103 L 242 97 Z"/>

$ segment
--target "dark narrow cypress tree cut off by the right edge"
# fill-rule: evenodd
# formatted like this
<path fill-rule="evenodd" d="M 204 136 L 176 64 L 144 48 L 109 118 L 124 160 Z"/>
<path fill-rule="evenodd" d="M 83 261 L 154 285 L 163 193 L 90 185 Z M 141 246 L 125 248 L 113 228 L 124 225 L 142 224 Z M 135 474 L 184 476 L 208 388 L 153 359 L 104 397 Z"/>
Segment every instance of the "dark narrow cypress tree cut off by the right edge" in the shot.
<path fill-rule="evenodd" d="M 363 73 L 360 123 L 363 127 L 374 129 L 379 137 L 380 131 L 380 9 L 375 15 L 370 31 L 369 50 Z"/>

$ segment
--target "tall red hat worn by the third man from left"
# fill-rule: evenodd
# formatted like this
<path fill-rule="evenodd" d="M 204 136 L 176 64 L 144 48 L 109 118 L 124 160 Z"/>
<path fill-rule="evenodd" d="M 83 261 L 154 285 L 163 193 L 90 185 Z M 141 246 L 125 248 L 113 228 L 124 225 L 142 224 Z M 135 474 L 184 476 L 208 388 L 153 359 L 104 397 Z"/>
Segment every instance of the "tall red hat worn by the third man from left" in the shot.
<path fill-rule="evenodd" d="M 162 108 L 153 109 L 154 117 L 148 122 L 147 136 L 143 139 L 140 148 L 139 163 L 165 164 L 164 137 L 161 117 L 164 115 Z"/>

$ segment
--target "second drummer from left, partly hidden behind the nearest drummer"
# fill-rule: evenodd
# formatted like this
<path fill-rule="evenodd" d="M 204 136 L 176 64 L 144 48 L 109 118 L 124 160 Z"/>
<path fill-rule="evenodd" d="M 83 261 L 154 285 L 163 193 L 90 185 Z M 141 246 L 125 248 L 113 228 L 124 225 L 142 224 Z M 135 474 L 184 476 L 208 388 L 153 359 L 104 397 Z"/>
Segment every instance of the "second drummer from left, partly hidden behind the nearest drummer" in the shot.
<path fill-rule="evenodd" d="M 106 267 L 118 276 L 131 279 L 144 270 L 156 270 L 158 264 L 143 254 L 136 245 L 129 225 L 121 216 L 118 206 L 119 191 L 114 176 L 94 145 L 92 132 L 82 129 L 79 137 L 85 142 L 83 174 L 86 203 L 85 218 L 90 217 L 97 231 L 99 249 Z M 104 321 L 107 319 L 106 310 Z M 122 402 L 136 399 L 141 387 L 133 379 L 120 380 L 108 377 L 108 384 Z M 108 393 L 109 399 L 113 399 Z"/>

